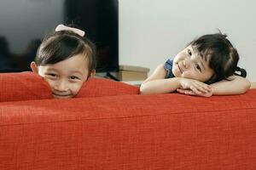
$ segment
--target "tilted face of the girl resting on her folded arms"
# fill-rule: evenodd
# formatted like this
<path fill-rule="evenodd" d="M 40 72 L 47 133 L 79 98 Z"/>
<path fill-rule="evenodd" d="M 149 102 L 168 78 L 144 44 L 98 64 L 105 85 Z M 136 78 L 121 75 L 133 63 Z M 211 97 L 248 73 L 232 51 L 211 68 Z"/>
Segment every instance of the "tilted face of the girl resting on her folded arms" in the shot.
<path fill-rule="evenodd" d="M 195 79 L 207 82 L 214 71 L 209 67 L 209 62 L 201 58 L 194 48 L 189 45 L 179 52 L 173 59 L 172 73 L 175 77 Z"/>

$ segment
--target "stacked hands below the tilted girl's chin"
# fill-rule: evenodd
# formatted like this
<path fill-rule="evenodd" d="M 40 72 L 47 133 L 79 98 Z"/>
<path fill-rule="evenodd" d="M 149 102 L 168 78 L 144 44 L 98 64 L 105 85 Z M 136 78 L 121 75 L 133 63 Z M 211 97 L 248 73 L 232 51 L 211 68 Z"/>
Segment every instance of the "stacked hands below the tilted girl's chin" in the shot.
<path fill-rule="evenodd" d="M 212 96 L 212 88 L 204 82 L 194 79 L 181 78 L 180 88 L 177 88 L 180 94 L 199 95 L 204 97 Z"/>

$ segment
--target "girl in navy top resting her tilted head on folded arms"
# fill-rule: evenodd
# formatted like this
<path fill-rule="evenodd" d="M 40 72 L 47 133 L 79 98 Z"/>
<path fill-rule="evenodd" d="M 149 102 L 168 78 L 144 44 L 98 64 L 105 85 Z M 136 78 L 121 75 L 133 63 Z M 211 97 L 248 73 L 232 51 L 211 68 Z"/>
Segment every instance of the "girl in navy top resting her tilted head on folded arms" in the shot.
<path fill-rule="evenodd" d="M 239 54 L 222 33 L 190 42 L 173 60 L 159 65 L 141 87 L 141 94 L 180 94 L 210 97 L 243 94 L 251 83 L 237 66 Z M 240 72 L 240 74 L 237 74 Z"/>

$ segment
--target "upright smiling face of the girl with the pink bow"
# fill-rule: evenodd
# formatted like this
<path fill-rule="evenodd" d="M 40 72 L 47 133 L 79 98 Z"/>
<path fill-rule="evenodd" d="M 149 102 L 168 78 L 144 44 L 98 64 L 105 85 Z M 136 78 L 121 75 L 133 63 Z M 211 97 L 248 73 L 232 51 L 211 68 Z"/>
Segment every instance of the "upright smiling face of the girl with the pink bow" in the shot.
<path fill-rule="evenodd" d="M 31 67 L 33 72 L 37 72 L 49 83 L 55 98 L 66 99 L 78 94 L 79 89 L 90 76 L 88 62 L 88 58 L 78 54 L 54 65 L 37 66 L 32 63 Z"/>

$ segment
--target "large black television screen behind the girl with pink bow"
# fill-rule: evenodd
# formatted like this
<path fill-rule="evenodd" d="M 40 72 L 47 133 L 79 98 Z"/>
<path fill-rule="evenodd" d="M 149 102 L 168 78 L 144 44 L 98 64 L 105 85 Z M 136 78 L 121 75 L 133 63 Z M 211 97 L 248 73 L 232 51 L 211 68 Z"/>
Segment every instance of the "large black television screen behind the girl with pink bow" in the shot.
<path fill-rule="evenodd" d="M 96 44 L 96 71 L 118 71 L 118 0 L 1 0 L 0 71 L 30 71 L 41 39 L 73 24 Z"/>

